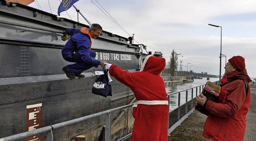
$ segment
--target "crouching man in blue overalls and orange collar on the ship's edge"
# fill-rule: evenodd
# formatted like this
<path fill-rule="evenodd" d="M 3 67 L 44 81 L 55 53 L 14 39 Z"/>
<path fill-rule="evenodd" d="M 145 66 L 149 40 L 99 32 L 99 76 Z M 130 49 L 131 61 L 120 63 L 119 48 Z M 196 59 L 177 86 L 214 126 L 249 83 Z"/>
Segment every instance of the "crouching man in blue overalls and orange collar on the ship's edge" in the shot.
<path fill-rule="evenodd" d="M 62 40 L 66 41 L 69 35 L 71 37 L 62 49 L 62 57 L 68 62 L 75 63 L 62 68 L 68 78 L 84 78 L 85 76 L 81 74 L 83 71 L 91 67 L 98 67 L 98 65 L 105 68 L 106 61 L 96 60 L 96 53 L 91 51 L 92 38 L 100 36 L 100 33 L 102 33 L 102 27 L 97 23 L 92 24 L 90 29 L 82 27 L 81 29 L 67 28 L 65 30 Z"/>

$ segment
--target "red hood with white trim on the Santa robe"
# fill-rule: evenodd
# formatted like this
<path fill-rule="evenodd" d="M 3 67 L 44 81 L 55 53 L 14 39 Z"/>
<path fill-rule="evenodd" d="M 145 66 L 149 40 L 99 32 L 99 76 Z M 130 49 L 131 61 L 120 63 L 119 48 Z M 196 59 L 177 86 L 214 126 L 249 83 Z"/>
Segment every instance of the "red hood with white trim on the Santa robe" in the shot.
<path fill-rule="evenodd" d="M 166 63 L 164 58 L 154 57 L 153 55 L 148 55 L 144 62 L 142 63 L 142 67 L 140 72 L 150 72 L 153 74 L 160 75 L 164 70 Z"/>

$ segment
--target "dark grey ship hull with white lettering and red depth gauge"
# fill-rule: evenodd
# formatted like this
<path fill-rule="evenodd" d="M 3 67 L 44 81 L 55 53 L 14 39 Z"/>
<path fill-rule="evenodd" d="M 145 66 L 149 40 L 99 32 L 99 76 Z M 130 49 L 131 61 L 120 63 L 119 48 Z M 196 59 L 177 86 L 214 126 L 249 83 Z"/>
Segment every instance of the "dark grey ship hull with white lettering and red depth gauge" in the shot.
<path fill-rule="evenodd" d="M 85 78 L 70 80 L 63 74 L 62 67 L 72 63 L 62 58 L 65 42 L 61 40 L 61 31 L 88 25 L 0 1 L 0 27 L 0 138 L 124 106 L 134 99 L 132 91 L 114 78 L 113 96 L 92 94 L 97 77 L 94 71 L 102 71 L 100 66 L 85 71 Z M 103 31 L 93 39 L 92 50 L 98 60 L 131 72 L 139 69 L 140 47 L 128 43 L 125 37 Z M 31 112 L 33 108 L 35 111 Z M 132 112 L 131 108 L 126 110 Z M 112 113 L 113 121 L 122 119 L 113 125 L 112 140 L 132 130 L 134 119 L 123 112 Z M 98 140 L 105 118 L 100 116 L 53 130 L 54 140 L 73 140 L 77 135 Z M 41 140 L 46 140 L 46 136 L 40 135 Z"/>

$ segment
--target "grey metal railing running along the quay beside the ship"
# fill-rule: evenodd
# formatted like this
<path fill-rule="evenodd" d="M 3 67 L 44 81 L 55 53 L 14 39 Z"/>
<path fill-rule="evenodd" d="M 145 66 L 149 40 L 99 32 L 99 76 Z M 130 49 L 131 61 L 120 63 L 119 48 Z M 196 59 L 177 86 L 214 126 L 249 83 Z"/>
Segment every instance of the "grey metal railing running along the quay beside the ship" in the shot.
<path fill-rule="evenodd" d="M 214 82 L 214 83 L 217 84 L 217 82 Z M 203 90 L 204 85 L 194 87 L 194 88 L 196 88 L 196 96 L 198 95 L 198 87 L 199 87 L 199 93 L 201 93 L 201 88 Z M 186 90 L 182 90 L 182 91 L 179 91 L 179 92 L 174 92 L 174 93 L 168 94 L 169 108 L 170 108 L 170 96 L 174 95 L 174 94 L 178 94 L 178 107 L 176 108 L 178 110 L 177 111 L 178 112 L 178 114 L 177 114 L 177 120 L 178 121 L 176 123 L 174 123 L 169 128 L 170 119 L 168 120 L 168 135 L 170 135 L 170 133 L 172 133 L 172 131 L 176 127 L 178 127 L 178 125 L 180 125 L 180 123 L 182 123 L 182 121 L 184 121 L 184 119 L 186 119 L 195 110 L 193 108 L 194 107 L 193 106 L 194 88 L 189 88 L 189 89 L 186 89 Z M 191 90 L 191 100 L 188 101 L 188 91 L 189 90 Z M 180 105 L 181 92 L 186 92 L 186 102 L 182 105 Z M 191 107 L 190 107 L 191 110 L 188 112 L 188 103 L 189 102 L 191 103 Z M 1 138 L 0 141 L 16 141 L 18 139 L 23 139 L 23 138 L 30 137 L 32 135 L 36 135 L 36 134 L 39 134 L 39 133 L 47 133 L 47 141 L 53 141 L 52 130 L 58 129 L 58 128 L 61 128 L 61 127 L 67 126 L 67 125 L 71 125 L 71 124 L 74 124 L 74 123 L 82 122 L 86 119 L 91 119 L 91 118 L 95 118 L 95 117 L 102 116 L 102 115 L 106 115 L 105 141 L 110 141 L 111 140 L 111 134 L 110 134 L 111 133 L 110 132 L 111 131 L 111 119 L 112 119 L 111 112 L 122 110 L 124 108 L 129 108 L 129 107 L 132 107 L 133 105 L 134 104 L 129 104 L 129 105 L 126 105 L 126 106 L 121 106 L 121 107 L 118 107 L 118 108 L 106 110 L 106 111 L 99 112 L 99 113 L 96 113 L 96 114 L 84 116 L 84 117 L 81 117 L 81 118 L 72 119 L 72 120 L 69 120 L 69 121 L 61 122 L 61 123 L 56 123 L 54 125 L 49 125 L 49 126 L 46 126 L 46 127 L 42 127 L 42 128 L 39 128 L 39 129 L 32 130 L 32 131 L 26 131 L 26 132 L 19 133 L 19 134 L 16 134 L 16 135 L 11 135 L 11 136 L 8 136 L 8 137 Z M 182 106 L 185 106 L 185 115 L 182 118 L 180 118 L 180 112 L 181 112 L 180 110 L 181 110 Z M 172 112 L 169 112 L 169 117 L 170 117 L 170 113 L 172 113 Z M 118 141 L 121 141 L 122 139 L 125 139 L 126 137 L 129 137 L 130 135 L 132 135 L 132 133 L 122 137 Z"/>

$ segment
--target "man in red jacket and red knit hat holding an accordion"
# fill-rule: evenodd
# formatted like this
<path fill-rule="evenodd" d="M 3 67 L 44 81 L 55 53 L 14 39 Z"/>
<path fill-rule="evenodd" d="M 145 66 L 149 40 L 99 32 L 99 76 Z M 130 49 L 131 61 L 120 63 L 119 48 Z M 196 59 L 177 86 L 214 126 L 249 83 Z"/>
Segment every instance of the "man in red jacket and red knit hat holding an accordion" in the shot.
<path fill-rule="evenodd" d="M 214 102 L 200 94 L 198 104 L 209 111 L 203 137 L 213 141 L 243 141 L 246 130 L 246 114 L 250 109 L 250 77 L 245 60 L 234 56 L 225 68 L 227 82 L 221 84 L 220 96 Z"/>

